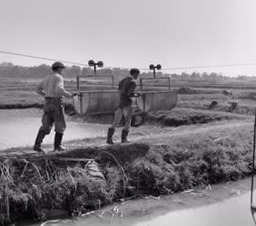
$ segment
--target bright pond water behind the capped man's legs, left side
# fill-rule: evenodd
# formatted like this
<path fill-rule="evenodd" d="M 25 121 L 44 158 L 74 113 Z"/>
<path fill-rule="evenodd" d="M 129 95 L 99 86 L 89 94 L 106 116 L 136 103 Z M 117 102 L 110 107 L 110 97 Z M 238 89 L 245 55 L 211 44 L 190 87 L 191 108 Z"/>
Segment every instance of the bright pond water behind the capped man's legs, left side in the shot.
<path fill-rule="evenodd" d="M 0 150 L 17 146 L 33 146 L 41 126 L 42 114 L 40 109 L 0 110 Z M 106 136 L 108 125 L 71 121 L 69 117 L 66 119 L 64 141 Z M 44 138 L 44 144 L 53 143 L 54 128 L 51 134 Z"/>

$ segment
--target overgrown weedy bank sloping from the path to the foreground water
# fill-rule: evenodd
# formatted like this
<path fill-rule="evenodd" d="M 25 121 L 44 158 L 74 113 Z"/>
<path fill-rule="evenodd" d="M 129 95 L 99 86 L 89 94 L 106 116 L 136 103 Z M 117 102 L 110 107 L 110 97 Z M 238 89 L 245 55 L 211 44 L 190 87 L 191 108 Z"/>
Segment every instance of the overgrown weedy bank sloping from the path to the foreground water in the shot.
<path fill-rule="evenodd" d="M 231 131 L 224 139 L 205 133 L 172 137 L 169 145 L 145 142 L 1 155 L 1 221 L 44 219 L 45 209 L 79 215 L 123 198 L 244 178 L 251 169 L 251 130 Z M 88 174 L 90 160 L 99 166 L 102 179 Z"/>

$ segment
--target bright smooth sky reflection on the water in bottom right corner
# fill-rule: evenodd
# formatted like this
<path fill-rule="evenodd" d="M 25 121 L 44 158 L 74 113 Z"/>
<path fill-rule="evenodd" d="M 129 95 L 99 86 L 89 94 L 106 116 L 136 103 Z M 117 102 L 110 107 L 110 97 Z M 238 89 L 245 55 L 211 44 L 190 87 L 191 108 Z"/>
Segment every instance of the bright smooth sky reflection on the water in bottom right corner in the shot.
<path fill-rule="evenodd" d="M 169 212 L 151 221 L 139 222 L 133 226 L 252 226 L 249 208 L 250 193 L 210 206 Z"/>

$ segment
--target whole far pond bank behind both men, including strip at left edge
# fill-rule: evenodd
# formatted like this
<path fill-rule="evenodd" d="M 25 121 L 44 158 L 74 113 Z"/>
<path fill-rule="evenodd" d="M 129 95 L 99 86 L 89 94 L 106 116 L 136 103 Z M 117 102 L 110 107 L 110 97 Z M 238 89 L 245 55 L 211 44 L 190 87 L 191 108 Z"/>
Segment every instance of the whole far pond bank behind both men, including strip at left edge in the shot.
<path fill-rule="evenodd" d="M 43 108 L 43 104 L 9 104 L 0 105 L 0 109 L 22 109 L 22 108 Z M 239 107 L 238 109 L 240 109 Z M 250 116 L 229 113 L 230 107 L 222 108 L 222 111 L 216 111 L 207 109 L 192 109 L 192 108 L 173 108 L 172 110 L 160 110 L 155 112 L 141 113 L 135 112 L 132 118 L 132 127 L 140 127 L 142 125 L 160 125 L 165 127 L 179 127 L 182 125 L 192 124 L 205 124 L 209 122 L 233 120 L 233 119 L 248 119 Z M 76 115 L 72 103 L 65 103 L 64 111 L 67 116 L 70 116 L 71 120 L 77 120 L 78 118 L 88 123 L 101 123 L 111 124 L 113 121 L 113 114 L 98 114 L 98 115 L 86 115 L 80 117 Z M 225 112 L 226 111 L 226 112 Z M 124 125 L 124 118 L 120 122 L 120 126 Z"/>

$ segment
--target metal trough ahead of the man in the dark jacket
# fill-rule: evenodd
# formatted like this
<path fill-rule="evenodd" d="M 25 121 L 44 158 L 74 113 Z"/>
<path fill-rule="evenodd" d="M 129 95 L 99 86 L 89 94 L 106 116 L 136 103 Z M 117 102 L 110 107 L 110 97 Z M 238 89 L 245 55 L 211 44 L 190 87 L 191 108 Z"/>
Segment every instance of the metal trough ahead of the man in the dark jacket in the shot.
<path fill-rule="evenodd" d="M 172 109 L 177 103 L 175 91 L 147 91 L 137 99 L 137 106 L 142 112 L 150 110 Z"/>

